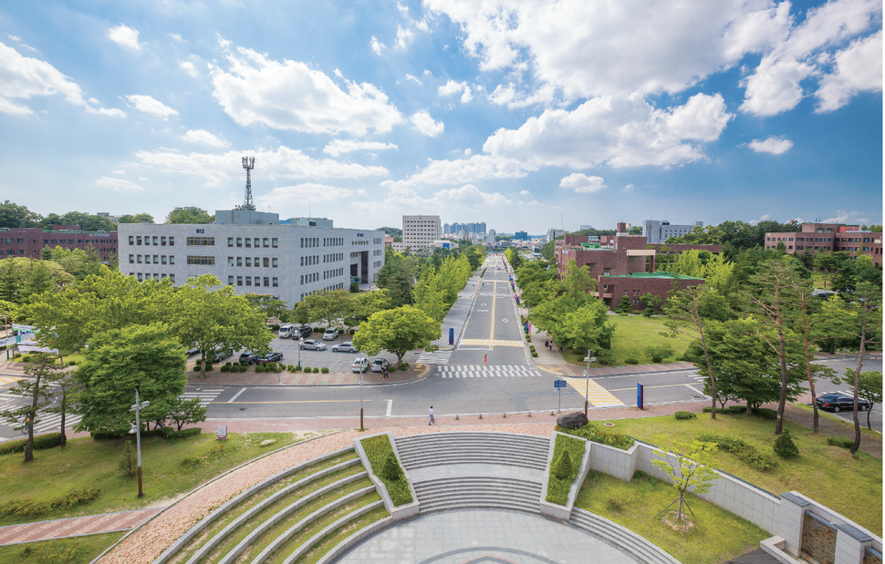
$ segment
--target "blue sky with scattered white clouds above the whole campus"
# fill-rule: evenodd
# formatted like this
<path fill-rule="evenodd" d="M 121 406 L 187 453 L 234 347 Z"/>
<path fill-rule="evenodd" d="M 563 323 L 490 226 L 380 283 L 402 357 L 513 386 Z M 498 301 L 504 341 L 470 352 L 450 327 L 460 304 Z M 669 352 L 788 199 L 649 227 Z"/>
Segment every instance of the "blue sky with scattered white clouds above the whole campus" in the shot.
<path fill-rule="evenodd" d="M 336 227 L 882 221 L 882 4 L 0 5 L 0 200 Z"/>

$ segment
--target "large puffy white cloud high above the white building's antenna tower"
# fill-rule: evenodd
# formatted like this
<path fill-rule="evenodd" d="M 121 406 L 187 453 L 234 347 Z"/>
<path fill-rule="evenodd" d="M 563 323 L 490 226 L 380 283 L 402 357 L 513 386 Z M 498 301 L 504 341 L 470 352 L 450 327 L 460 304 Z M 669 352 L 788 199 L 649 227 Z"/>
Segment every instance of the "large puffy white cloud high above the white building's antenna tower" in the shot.
<path fill-rule="evenodd" d="M 270 60 L 243 47 L 237 52 L 227 56 L 227 70 L 211 66 L 210 72 L 213 97 L 242 126 L 363 136 L 370 129 L 387 133 L 404 120 L 379 87 L 345 81 L 345 92 L 305 63 Z"/>

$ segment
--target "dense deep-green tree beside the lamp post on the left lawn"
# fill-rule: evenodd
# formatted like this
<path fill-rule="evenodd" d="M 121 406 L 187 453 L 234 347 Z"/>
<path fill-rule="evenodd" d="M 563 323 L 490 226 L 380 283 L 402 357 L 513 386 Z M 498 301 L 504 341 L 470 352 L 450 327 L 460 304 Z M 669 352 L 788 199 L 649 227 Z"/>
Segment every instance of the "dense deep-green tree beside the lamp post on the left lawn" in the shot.
<path fill-rule="evenodd" d="M 85 356 L 74 373 L 78 431 L 128 432 L 136 388 L 141 401 L 151 402 L 141 410 L 142 421 L 164 419 L 187 385 L 184 350 L 164 323 L 96 334 Z"/>

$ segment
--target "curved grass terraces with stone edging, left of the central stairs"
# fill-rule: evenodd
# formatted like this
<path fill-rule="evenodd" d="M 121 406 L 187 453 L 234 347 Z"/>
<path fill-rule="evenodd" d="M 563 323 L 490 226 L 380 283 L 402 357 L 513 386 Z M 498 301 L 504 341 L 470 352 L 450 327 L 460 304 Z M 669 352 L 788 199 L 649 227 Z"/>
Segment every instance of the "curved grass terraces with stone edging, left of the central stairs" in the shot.
<path fill-rule="evenodd" d="M 217 508 L 154 564 L 295 564 L 390 519 L 359 457 L 344 449 L 292 467 Z"/>

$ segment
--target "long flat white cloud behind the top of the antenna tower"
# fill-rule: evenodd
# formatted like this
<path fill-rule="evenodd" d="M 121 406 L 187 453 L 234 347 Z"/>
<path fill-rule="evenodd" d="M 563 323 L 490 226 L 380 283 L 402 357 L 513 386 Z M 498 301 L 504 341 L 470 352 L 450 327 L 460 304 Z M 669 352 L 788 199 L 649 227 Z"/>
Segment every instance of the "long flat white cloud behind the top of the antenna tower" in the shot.
<path fill-rule="evenodd" d="M 301 149 L 280 147 L 274 150 L 231 150 L 224 154 L 182 153 L 175 150 L 141 150 L 135 153 L 141 164 L 157 167 L 165 172 L 189 174 L 205 179 L 207 186 L 218 186 L 242 176 L 241 157 L 249 152 L 255 157 L 256 182 L 259 179 L 353 179 L 366 176 L 386 176 L 384 167 L 364 167 L 331 159 L 311 159 Z"/>

